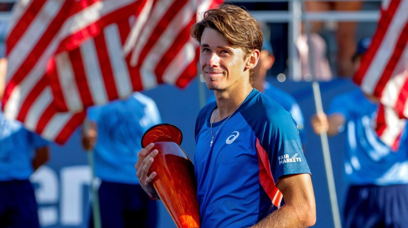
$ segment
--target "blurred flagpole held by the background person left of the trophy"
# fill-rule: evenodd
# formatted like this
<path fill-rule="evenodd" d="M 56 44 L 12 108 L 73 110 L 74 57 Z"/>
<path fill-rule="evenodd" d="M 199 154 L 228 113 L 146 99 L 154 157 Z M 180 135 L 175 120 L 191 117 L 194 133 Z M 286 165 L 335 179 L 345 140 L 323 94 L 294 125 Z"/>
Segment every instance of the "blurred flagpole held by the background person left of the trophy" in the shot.
<path fill-rule="evenodd" d="M 88 132 L 89 130 L 89 120 L 84 120 L 84 132 Z M 94 228 L 101 228 L 101 221 L 100 221 L 100 209 L 99 209 L 99 194 L 98 189 L 96 188 L 96 176 L 95 176 L 95 166 L 93 163 L 93 150 L 87 150 L 87 157 L 88 157 L 88 164 L 91 169 L 91 197 L 92 197 L 92 217 L 93 217 L 93 227 Z"/>

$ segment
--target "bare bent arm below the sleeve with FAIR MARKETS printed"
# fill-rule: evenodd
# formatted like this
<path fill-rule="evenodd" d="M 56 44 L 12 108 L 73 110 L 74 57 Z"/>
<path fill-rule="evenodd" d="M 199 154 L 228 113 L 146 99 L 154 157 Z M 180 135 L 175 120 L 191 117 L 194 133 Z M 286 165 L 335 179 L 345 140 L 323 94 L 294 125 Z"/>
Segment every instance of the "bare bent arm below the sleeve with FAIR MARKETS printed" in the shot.
<path fill-rule="evenodd" d="M 276 187 L 282 192 L 285 205 L 252 228 L 309 227 L 316 223 L 316 203 L 309 174 L 283 176 Z"/>

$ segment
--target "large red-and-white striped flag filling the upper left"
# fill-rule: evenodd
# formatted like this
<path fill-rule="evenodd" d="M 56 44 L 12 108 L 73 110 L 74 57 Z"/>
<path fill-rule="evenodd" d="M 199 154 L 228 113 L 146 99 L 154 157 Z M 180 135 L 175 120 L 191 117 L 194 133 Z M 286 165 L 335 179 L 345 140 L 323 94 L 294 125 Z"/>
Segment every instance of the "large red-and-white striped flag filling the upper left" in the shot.
<path fill-rule="evenodd" d="M 21 0 L 7 35 L 3 110 L 63 144 L 86 108 L 196 76 L 190 27 L 220 0 Z"/>

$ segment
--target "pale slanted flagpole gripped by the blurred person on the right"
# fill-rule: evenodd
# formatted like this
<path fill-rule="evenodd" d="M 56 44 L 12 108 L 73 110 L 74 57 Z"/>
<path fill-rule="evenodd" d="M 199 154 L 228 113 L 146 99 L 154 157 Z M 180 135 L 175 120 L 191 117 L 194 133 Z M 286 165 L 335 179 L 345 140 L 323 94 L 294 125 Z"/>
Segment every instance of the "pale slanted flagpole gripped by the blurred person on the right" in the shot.
<path fill-rule="evenodd" d="M 303 1 L 301 0 L 294 0 L 295 2 L 300 2 L 301 4 L 301 13 L 304 14 L 305 6 Z M 315 100 L 316 106 L 316 113 L 323 113 L 323 104 L 322 104 L 322 97 L 320 94 L 320 87 L 319 82 L 316 80 L 316 69 L 315 69 L 315 62 L 313 59 L 313 45 L 311 42 L 310 36 L 310 28 L 309 28 L 309 21 L 305 21 L 304 23 L 304 31 L 307 35 L 308 40 L 308 59 L 309 59 L 309 66 L 310 72 L 312 74 L 312 88 L 313 88 L 313 97 Z M 330 158 L 330 150 L 328 146 L 328 139 L 327 139 L 327 132 L 320 133 L 320 140 L 322 144 L 322 151 L 323 151 L 323 160 L 324 160 L 324 167 L 326 170 L 326 179 L 328 185 L 328 192 L 330 197 L 330 205 L 331 205 L 331 214 L 333 215 L 333 223 L 335 228 L 341 228 L 341 219 L 340 219 L 340 212 L 339 212 L 339 205 L 337 202 L 337 193 L 336 193 L 336 185 L 333 175 L 333 167 L 331 166 L 331 158 Z"/>

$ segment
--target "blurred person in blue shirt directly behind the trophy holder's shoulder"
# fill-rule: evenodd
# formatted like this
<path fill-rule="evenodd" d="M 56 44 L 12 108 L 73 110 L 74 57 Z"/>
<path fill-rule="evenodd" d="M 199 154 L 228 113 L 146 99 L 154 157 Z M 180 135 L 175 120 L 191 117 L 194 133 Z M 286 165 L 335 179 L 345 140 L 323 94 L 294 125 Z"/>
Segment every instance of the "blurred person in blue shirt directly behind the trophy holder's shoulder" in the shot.
<path fill-rule="evenodd" d="M 292 114 L 299 130 L 300 140 L 302 144 L 304 144 L 306 141 L 306 132 L 304 131 L 304 118 L 299 104 L 289 93 L 272 86 L 271 83 L 266 81 L 266 73 L 271 69 L 274 62 L 275 56 L 273 55 L 272 45 L 268 40 L 265 40 L 264 37 L 264 44 L 260 51 L 258 64 L 253 69 L 252 87 L 272 98 Z"/>

